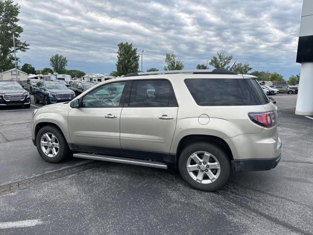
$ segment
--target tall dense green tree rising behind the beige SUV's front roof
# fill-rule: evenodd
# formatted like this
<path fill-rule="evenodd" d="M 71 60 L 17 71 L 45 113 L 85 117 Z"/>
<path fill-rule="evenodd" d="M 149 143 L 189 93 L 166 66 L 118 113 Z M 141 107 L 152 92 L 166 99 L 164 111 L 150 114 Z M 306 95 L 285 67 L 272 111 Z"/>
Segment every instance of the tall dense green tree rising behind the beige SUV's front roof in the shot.
<path fill-rule="evenodd" d="M 137 48 L 133 48 L 133 43 L 119 43 L 116 62 L 116 76 L 137 72 L 139 68 L 139 55 Z"/>

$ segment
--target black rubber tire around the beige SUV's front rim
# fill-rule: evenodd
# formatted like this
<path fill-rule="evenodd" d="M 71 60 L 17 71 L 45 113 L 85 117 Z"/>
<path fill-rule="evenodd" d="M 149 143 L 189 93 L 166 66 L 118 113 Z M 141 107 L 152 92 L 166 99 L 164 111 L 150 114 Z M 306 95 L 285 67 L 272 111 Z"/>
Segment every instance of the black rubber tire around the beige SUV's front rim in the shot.
<path fill-rule="evenodd" d="M 54 157 L 48 157 L 47 155 L 45 155 L 45 153 L 42 150 L 40 141 L 41 141 L 42 136 L 45 133 L 51 133 L 51 134 L 55 135 L 55 137 L 58 140 L 59 149 L 58 149 L 58 153 Z M 45 161 L 47 161 L 49 163 L 59 163 L 61 161 L 64 161 L 65 159 L 67 159 L 71 155 L 71 152 L 68 148 L 67 141 L 66 141 L 65 137 L 63 136 L 62 132 L 54 126 L 48 125 L 48 126 L 45 126 L 39 130 L 37 137 L 36 137 L 36 146 L 37 146 L 37 150 L 38 150 L 38 153 L 40 154 L 40 156 Z"/>

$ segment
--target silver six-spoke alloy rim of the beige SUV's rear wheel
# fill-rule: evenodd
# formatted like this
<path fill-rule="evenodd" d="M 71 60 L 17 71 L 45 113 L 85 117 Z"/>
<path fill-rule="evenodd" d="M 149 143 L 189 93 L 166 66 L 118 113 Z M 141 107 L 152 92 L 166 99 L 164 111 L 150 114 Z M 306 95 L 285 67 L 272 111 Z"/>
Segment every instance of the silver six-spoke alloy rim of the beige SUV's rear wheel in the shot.
<path fill-rule="evenodd" d="M 191 178 L 201 184 L 213 183 L 221 173 L 221 166 L 217 158 L 205 151 L 197 151 L 191 154 L 186 167 Z"/>

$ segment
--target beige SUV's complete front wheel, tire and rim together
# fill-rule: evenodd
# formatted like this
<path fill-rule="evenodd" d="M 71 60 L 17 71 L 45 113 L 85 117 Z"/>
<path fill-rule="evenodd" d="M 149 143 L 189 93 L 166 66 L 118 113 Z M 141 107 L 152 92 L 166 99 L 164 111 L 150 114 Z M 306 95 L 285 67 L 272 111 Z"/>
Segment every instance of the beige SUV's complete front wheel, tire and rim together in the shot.
<path fill-rule="evenodd" d="M 70 155 L 66 139 L 54 126 L 45 126 L 39 130 L 36 146 L 40 156 L 49 163 L 61 162 Z"/>

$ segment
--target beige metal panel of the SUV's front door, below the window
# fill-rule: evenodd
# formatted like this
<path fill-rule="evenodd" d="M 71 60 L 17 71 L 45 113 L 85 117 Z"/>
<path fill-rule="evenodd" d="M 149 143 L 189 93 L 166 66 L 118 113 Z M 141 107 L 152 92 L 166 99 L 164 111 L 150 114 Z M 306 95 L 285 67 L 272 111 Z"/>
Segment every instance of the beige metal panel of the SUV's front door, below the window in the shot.
<path fill-rule="evenodd" d="M 68 130 L 74 144 L 119 148 L 122 108 L 79 108 L 68 114 Z M 105 118 L 107 115 L 116 118 Z"/>

